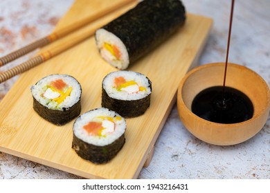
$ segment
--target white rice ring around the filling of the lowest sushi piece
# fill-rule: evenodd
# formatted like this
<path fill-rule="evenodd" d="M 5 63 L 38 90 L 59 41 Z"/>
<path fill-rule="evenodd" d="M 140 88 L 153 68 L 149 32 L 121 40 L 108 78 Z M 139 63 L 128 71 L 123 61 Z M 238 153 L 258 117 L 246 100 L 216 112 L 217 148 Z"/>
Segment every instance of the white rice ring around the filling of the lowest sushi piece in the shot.
<path fill-rule="evenodd" d="M 98 116 L 110 116 L 112 118 L 114 118 L 115 116 L 119 116 L 121 119 L 115 121 L 116 125 L 114 132 L 108 133 L 106 134 L 106 136 L 89 135 L 83 127 L 84 125 L 87 125 L 90 121 L 95 121 L 96 117 Z M 95 110 L 90 110 L 89 112 L 85 112 L 84 114 L 80 115 L 78 119 L 76 119 L 73 125 L 73 133 L 76 137 L 78 137 L 78 139 L 97 146 L 104 146 L 113 143 L 114 141 L 116 141 L 116 139 L 118 139 L 120 136 L 122 136 L 122 134 L 125 133 L 125 129 L 125 119 L 118 113 L 108 110 L 107 108 L 98 108 Z"/>

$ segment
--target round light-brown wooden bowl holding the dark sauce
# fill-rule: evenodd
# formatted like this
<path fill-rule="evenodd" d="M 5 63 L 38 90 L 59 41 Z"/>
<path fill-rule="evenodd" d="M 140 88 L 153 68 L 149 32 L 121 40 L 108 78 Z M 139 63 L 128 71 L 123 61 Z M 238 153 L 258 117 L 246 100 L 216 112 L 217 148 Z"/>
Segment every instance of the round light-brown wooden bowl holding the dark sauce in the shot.
<path fill-rule="evenodd" d="M 177 93 L 180 119 L 190 133 L 206 143 L 234 145 L 257 134 L 267 121 L 270 91 L 258 74 L 242 65 L 228 63 L 226 86 L 240 90 L 253 103 L 253 117 L 240 123 L 214 123 L 191 112 L 195 96 L 206 88 L 223 85 L 224 63 L 210 63 L 194 68 L 181 80 Z"/>

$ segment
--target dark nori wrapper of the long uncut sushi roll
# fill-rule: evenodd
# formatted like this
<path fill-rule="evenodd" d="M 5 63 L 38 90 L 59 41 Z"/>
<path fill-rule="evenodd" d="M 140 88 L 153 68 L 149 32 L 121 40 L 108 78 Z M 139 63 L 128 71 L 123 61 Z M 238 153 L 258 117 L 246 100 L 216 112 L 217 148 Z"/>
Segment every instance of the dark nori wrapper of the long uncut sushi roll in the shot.
<path fill-rule="evenodd" d="M 144 0 L 102 28 L 123 41 L 130 64 L 170 37 L 185 21 L 186 10 L 180 0 Z"/>

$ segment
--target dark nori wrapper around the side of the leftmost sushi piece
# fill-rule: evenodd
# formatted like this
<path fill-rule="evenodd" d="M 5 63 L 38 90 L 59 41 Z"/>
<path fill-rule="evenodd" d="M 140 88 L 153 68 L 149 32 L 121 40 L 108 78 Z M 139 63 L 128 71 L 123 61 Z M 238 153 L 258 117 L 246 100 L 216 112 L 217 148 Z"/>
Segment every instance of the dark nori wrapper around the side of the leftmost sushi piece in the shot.
<path fill-rule="evenodd" d="M 42 116 L 43 119 L 55 125 L 64 125 L 68 123 L 76 116 L 78 116 L 81 111 L 80 100 L 70 108 L 63 108 L 62 110 L 51 110 L 40 104 L 34 97 L 33 99 L 33 108 L 35 112 L 37 112 L 39 116 Z"/>

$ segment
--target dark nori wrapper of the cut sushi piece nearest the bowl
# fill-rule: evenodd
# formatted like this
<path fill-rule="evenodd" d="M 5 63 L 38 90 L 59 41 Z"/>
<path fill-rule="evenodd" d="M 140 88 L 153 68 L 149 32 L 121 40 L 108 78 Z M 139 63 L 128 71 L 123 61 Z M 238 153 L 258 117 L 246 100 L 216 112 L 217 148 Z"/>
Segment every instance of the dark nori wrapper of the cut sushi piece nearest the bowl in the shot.
<path fill-rule="evenodd" d="M 152 92 L 152 83 L 150 79 L 148 79 L 148 82 L 150 90 Z M 125 101 L 120 99 L 114 99 L 107 94 L 102 84 L 102 108 L 108 108 L 109 110 L 113 110 L 125 118 L 132 118 L 144 114 L 147 108 L 150 107 L 150 98 L 151 93 L 144 98 L 137 100 Z"/>

